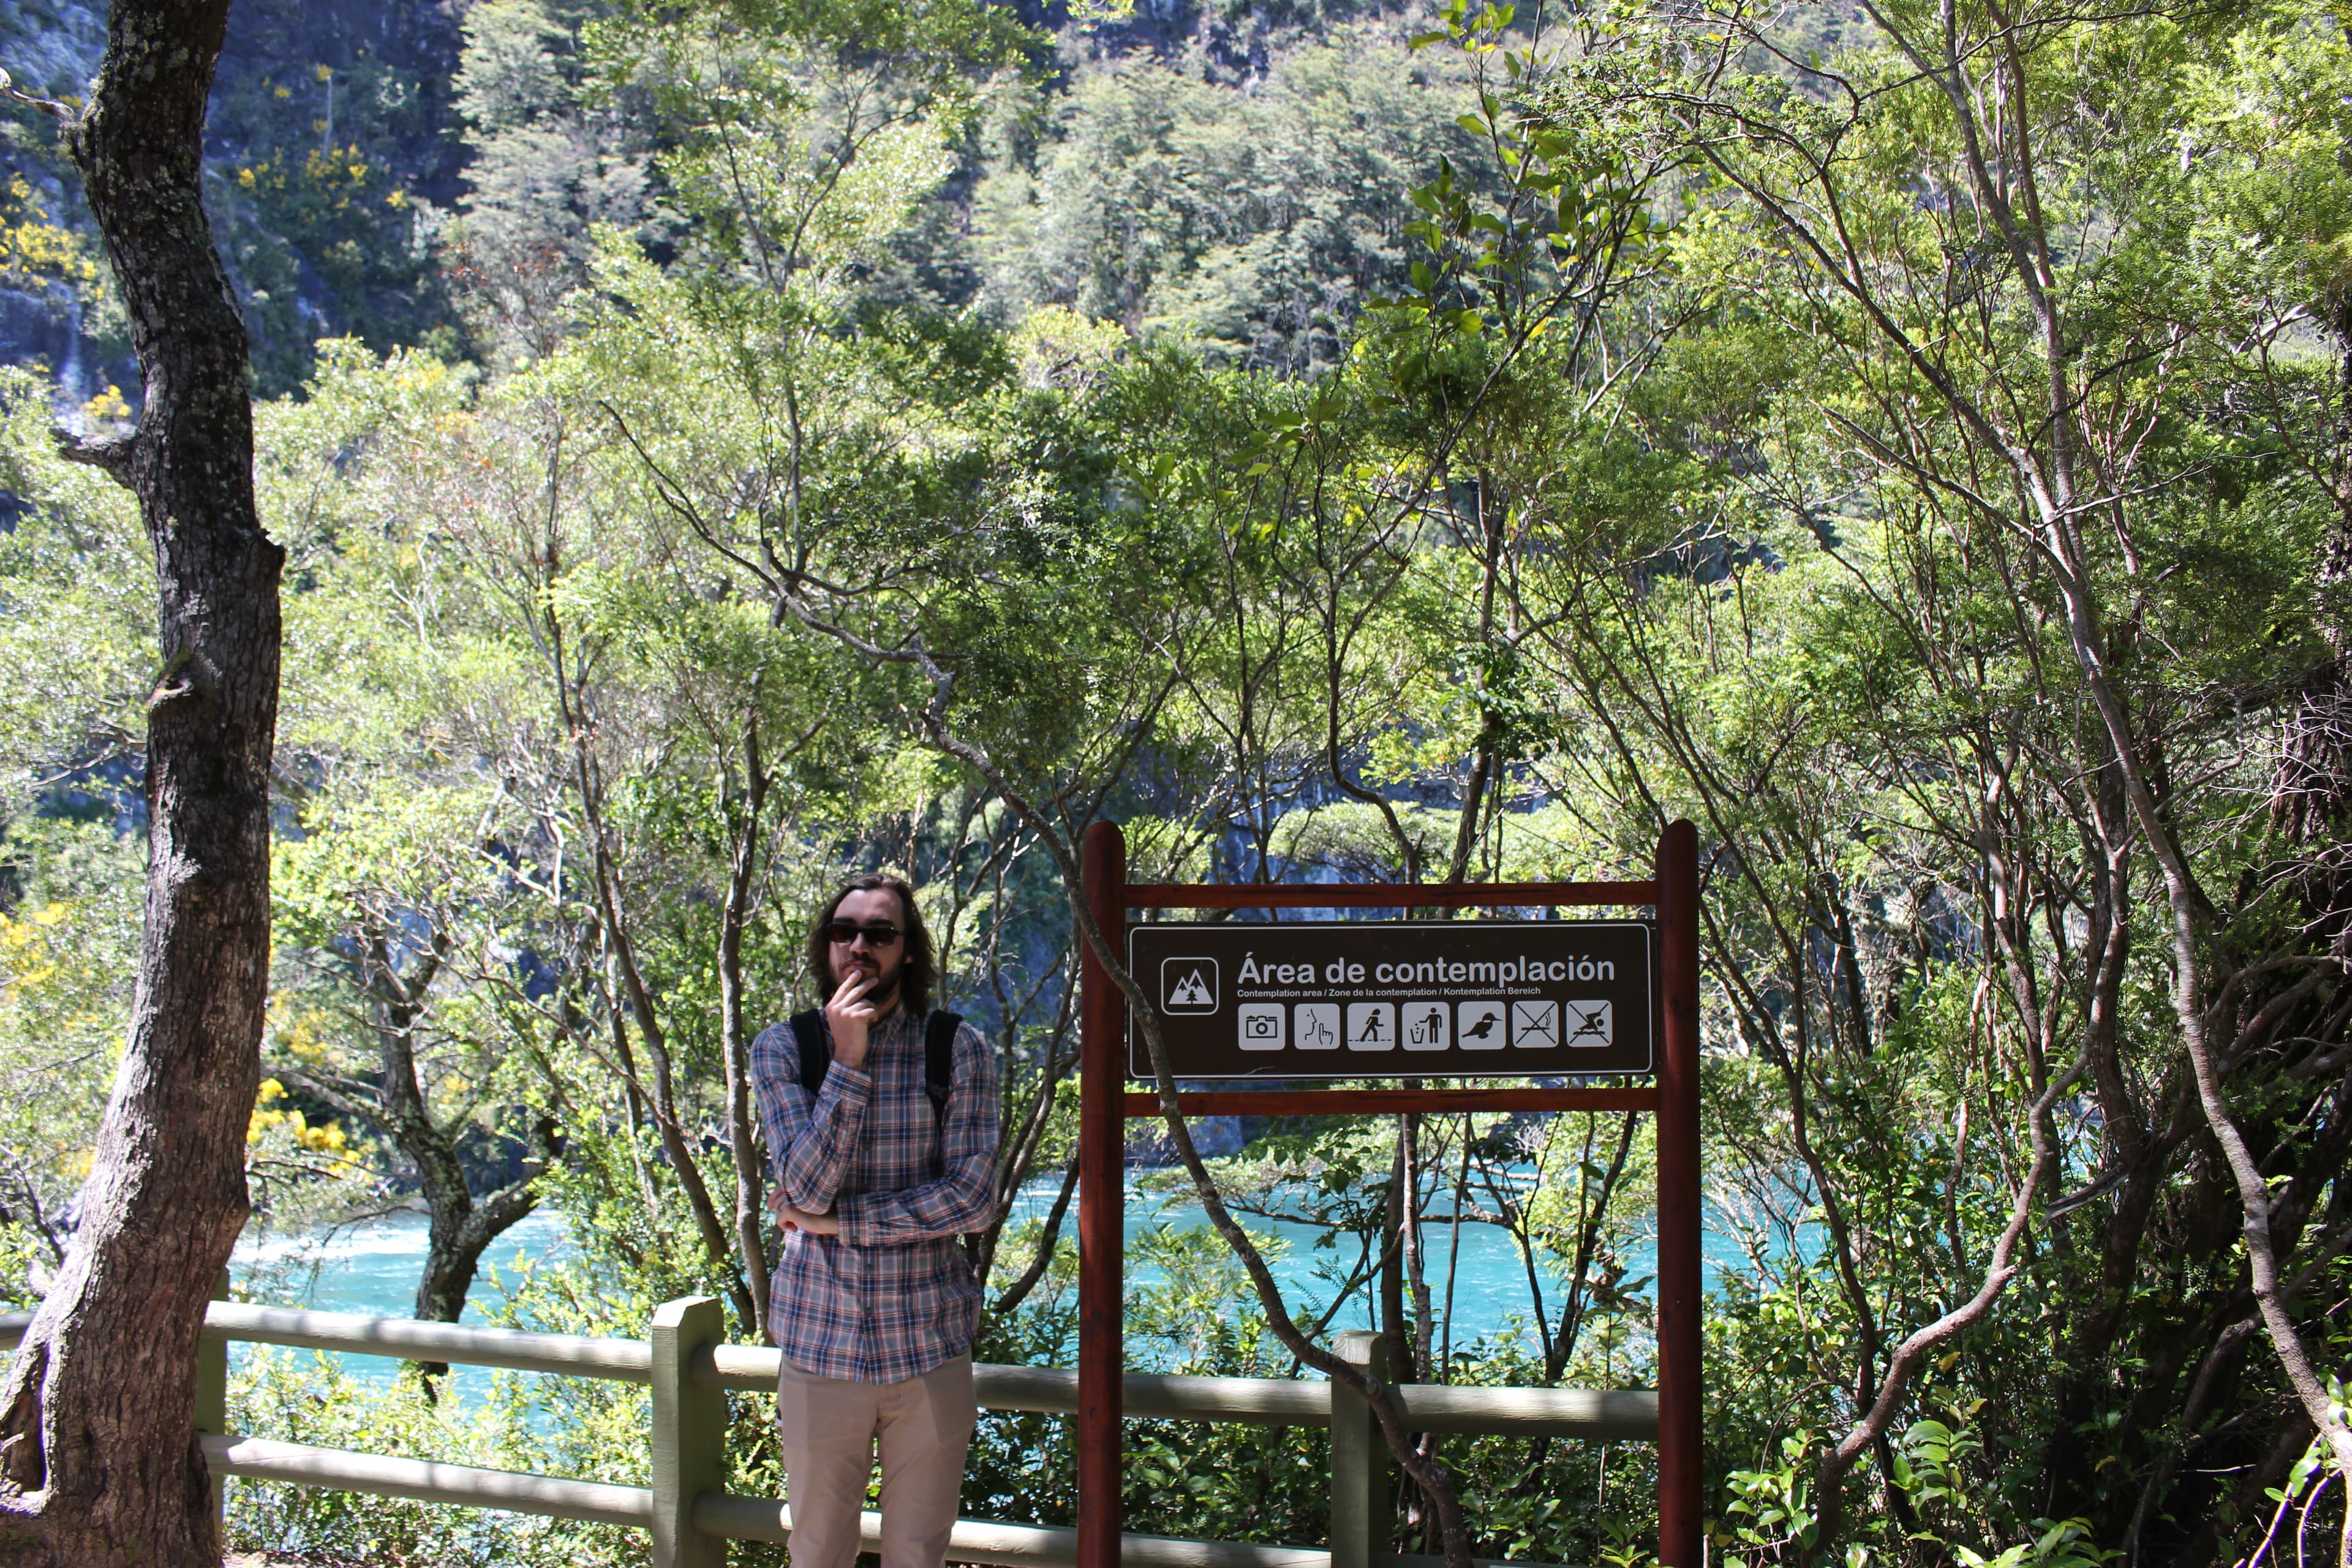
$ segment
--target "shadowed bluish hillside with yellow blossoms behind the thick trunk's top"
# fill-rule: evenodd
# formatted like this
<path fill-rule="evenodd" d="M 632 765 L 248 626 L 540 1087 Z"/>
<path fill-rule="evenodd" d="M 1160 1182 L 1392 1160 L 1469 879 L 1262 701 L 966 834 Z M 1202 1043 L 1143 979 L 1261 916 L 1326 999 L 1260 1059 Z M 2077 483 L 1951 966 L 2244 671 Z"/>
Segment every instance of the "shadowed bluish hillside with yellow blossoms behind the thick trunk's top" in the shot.
<path fill-rule="evenodd" d="M 0 0 L 0 66 L 31 92 L 80 96 L 103 45 L 103 2 Z M 388 348 L 449 331 L 430 233 L 461 193 L 459 45 L 445 0 L 230 7 L 207 207 L 261 395 L 299 386 L 320 336 Z M 0 362 L 40 362 L 75 404 L 111 383 L 136 397 L 80 190 L 33 110 L 0 122 Z"/>

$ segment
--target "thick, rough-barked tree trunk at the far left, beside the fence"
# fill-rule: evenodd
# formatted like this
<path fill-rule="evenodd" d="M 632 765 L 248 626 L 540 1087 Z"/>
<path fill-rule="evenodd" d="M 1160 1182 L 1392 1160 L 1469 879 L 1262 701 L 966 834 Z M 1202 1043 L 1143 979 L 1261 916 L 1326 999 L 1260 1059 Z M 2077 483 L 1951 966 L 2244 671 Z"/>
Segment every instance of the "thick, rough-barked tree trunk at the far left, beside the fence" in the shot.
<path fill-rule="evenodd" d="M 195 1340 L 247 1215 L 270 952 L 278 571 L 254 512 L 245 322 L 205 219 L 226 0 L 115 0 L 64 143 L 146 383 L 139 433 L 68 447 L 139 496 L 162 668 L 148 696 L 146 929 L 82 1229 L 0 1389 L 0 1561 L 219 1563 Z"/>

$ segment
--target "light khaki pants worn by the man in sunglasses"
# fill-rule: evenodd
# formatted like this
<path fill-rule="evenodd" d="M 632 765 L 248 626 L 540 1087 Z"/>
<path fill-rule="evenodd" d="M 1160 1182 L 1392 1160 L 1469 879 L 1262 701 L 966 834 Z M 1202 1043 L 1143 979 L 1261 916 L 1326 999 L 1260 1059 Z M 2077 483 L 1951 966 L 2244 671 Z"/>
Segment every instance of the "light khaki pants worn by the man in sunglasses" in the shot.
<path fill-rule="evenodd" d="M 906 1382 L 818 1378 L 783 1363 L 776 1434 L 793 1507 L 793 1568 L 849 1568 L 882 1439 L 882 1568 L 938 1568 L 964 1488 L 978 1406 L 971 1356 Z"/>

